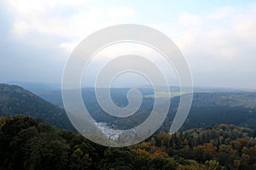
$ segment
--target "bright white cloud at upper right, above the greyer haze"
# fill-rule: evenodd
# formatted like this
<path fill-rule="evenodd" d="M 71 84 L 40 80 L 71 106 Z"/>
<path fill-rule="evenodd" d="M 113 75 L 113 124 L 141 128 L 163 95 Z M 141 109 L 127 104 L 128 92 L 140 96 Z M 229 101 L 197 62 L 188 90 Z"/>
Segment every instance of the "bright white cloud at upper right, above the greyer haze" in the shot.
<path fill-rule="evenodd" d="M 193 19 L 194 17 L 187 17 L 188 21 L 185 22 L 181 14 L 180 18 L 183 18 L 188 28 L 179 30 L 182 31 L 180 33 L 182 36 L 177 37 L 178 45 L 188 54 L 204 51 L 206 54 L 214 54 L 221 59 L 225 57 L 229 59 L 231 55 L 235 56 L 236 52 L 242 50 L 245 45 L 247 48 L 252 47 L 256 38 L 256 33 L 253 31 L 256 29 L 256 20 L 253 17 L 256 15 L 256 8 L 235 10 L 229 7 L 228 9 L 230 10 L 224 13 L 227 7 L 216 8 L 214 12 L 202 16 L 201 22 Z M 191 16 L 192 14 L 185 15 Z"/>

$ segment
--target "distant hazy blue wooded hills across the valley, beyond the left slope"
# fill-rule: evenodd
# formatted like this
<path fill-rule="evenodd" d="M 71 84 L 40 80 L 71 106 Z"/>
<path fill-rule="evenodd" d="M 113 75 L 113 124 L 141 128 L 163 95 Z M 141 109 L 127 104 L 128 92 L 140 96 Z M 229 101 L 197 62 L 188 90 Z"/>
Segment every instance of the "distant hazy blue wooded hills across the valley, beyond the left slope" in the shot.
<path fill-rule="evenodd" d="M 113 101 L 120 106 L 127 105 L 128 100 L 126 99 L 126 93 L 128 90 L 129 88 L 111 88 Z M 108 125 L 115 125 L 119 129 L 126 129 L 143 122 L 152 110 L 154 98 L 150 96 L 154 96 L 154 91 L 148 88 L 142 88 L 140 90 L 143 94 L 143 104 L 139 111 L 128 119 L 109 116 L 102 111 L 101 107 L 96 102 L 93 88 L 83 88 L 82 94 L 84 104 L 91 115 L 96 119 L 96 122 L 107 122 Z M 199 92 L 199 88 L 196 88 L 196 90 L 198 92 L 194 94 L 189 116 L 180 130 L 214 126 L 221 123 L 235 124 L 237 126 L 256 129 L 255 92 L 242 91 L 240 89 L 222 89 L 222 91 L 219 89 L 212 89 L 212 91 L 208 90 L 209 92 Z M 216 92 L 213 90 L 216 90 Z M 170 97 L 169 95 L 164 94 L 164 92 L 159 94 L 161 94 L 160 97 Z M 39 95 L 43 99 L 63 107 L 61 91 L 48 91 L 40 93 Z M 161 130 L 167 132 L 170 128 L 170 124 L 177 111 L 178 103 L 179 96 L 173 96 L 170 111 Z"/>

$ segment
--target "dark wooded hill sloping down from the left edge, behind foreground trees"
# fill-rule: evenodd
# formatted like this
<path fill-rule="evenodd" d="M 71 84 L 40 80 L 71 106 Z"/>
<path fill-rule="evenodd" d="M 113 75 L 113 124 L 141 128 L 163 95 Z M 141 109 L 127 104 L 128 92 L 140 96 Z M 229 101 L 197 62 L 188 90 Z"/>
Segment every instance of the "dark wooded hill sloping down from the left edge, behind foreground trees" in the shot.
<path fill-rule="evenodd" d="M 24 88 L 0 84 L 0 116 L 24 115 L 57 127 L 73 129 L 66 112 Z"/>

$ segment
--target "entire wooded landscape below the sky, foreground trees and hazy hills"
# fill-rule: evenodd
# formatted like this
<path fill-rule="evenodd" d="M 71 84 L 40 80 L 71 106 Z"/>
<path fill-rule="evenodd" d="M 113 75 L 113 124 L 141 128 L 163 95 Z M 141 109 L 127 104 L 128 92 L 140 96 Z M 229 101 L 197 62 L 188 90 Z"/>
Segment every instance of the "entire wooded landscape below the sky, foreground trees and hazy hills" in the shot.
<path fill-rule="evenodd" d="M 112 89 L 116 105 L 127 103 L 127 90 Z M 141 108 L 126 120 L 100 110 L 91 88 L 83 91 L 84 104 L 97 122 L 125 129 L 143 122 L 152 109 L 152 92 L 142 92 Z M 19 86 L 0 84 L 0 169 L 256 169 L 255 96 L 195 93 L 186 122 L 171 134 L 179 102 L 174 97 L 153 136 L 130 147 L 109 148 L 77 133 L 64 109 Z"/>

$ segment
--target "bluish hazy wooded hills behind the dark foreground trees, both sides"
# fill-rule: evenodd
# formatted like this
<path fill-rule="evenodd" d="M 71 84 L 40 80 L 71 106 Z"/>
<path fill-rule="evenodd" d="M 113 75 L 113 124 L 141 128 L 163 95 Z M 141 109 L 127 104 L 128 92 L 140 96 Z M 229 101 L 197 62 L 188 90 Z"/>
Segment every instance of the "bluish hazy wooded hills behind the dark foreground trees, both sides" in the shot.
<path fill-rule="evenodd" d="M 111 88 L 113 102 L 120 107 L 127 105 L 126 94 L 130 88 Z M 147 97 L 154 93 L 151 89 L 140 89 L 143 102 L 139 110 L 128 118 L 110 116 L 102 111 L 96 101 L 94 88 L 83 88 L 84 105 L 96 122 L 106 122 L 111 127 L 127 129 L 144 122 L 154 105 L 154 99 Z M 174 88 L 173 90 L 177 90 Z M 0 116 L 25 115 L 56 127 L 75 131 L 63 108 L 61 91 L 41 92 L 40 97 L 16 85 L 0 83 Z M 42 98 L 43 99 L 42 99 Z M 46 100 L 45 100 L 46 99 Z M 195 93 L 191 110 L 181 131 L 190 128 L 235 124 L 236 126 L 256 129 L 256 93 L 222 91 Z M 169 113 L 160 131 L 168 132 L 177 112 L 179 96 L 171 99 Z"/>

